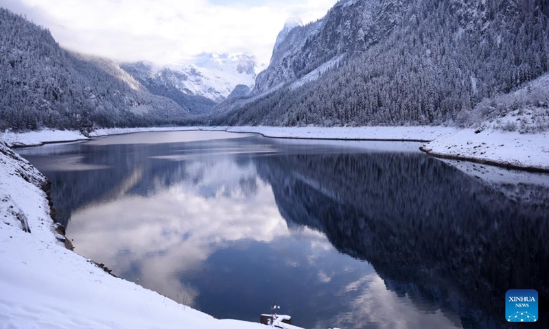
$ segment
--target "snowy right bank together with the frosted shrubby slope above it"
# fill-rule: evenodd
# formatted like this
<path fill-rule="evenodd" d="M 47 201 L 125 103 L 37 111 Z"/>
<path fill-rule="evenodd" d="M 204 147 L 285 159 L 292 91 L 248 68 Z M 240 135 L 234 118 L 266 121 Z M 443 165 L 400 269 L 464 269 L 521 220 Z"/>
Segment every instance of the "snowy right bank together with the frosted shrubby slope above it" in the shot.
<path fill-rule="evenodd" d="M 441 136 L 428 154 L 511 169 L 549 172 L 549 74 L 508 94 L 484 99 L 464 113 L 471 129 Z"/>

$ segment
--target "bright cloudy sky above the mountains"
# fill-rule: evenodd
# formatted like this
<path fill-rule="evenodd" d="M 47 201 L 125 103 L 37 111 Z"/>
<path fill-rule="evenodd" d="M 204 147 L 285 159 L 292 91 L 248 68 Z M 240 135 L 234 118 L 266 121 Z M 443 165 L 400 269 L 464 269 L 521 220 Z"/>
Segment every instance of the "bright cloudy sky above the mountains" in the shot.
<path fill-rule="evenodd" d="M 247 53 L 268 64 L 285 21 L 320 19 L 336 0 L 0 0 L 62 47 L 122 62 L 193 62 Z M 263 64 L 263 65 L 261 65 Z"/>

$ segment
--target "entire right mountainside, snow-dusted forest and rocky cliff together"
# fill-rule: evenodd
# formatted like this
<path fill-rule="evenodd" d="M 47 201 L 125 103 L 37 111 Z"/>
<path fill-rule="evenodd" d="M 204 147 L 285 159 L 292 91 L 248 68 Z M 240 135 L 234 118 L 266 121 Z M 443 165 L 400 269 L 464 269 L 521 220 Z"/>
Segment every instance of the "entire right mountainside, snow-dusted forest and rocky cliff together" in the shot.
<path fill-rule="evenodd" d="M 386 23 L 372 21 L 368 8 Z M 288 34 L 300 34 L 299 44 L 275 49 L 254 99 L 220 106 L 211 123 L 470 125 L 481 101 L 549 71 L 548 15 L 545 0 L 340 1 L 318 26 Z M 323 53 L 340 60 L 317 73 Z M 312 72 L 307 83 L 303 70 Z"/>

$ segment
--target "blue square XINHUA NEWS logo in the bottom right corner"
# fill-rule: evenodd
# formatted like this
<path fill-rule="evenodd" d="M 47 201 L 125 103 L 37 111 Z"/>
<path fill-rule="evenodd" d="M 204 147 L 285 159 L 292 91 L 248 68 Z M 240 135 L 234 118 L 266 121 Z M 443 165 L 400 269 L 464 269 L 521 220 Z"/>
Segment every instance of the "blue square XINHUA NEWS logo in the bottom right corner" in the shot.
<path fill-rule="evenodd" d="M 505 319 L 508 322 L 536 322 L 537 291 L 509 290 L 505 294 Z"/>

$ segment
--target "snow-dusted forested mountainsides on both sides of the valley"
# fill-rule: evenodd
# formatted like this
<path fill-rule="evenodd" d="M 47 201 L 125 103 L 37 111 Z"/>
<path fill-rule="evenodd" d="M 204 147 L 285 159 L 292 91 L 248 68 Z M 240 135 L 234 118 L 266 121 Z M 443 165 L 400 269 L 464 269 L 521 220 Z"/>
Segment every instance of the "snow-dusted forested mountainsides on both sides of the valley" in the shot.
<path fill-rule="evenodd" d="M 151 90 L 124 64 L 62 49 L 0 9 L 0 129 L 471 126 L 528 107 L 542 118 L 534 130 L 549 125 L 549 86 L 531 83 L 549 71 L 545 0 L 340 1 L 283 32 L 254 90 L 197 113 L 192 95 Z M 520 88 L 526 97 L 500 101 Z"/>

